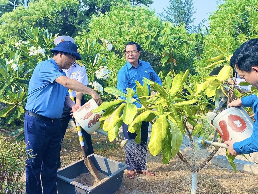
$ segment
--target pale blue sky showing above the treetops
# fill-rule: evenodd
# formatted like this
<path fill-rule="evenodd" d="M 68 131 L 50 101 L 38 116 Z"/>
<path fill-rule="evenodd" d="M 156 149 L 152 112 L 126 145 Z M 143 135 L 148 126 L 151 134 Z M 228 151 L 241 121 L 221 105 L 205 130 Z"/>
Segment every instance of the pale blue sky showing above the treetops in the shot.
<path fill-rule="evenodd" d="M 169 0 L 153 0 L 154 3 L 150 5 L 151 8 L 156 10 L 156 14 L 161 13 L 168 6 Z M 209 15 L 216 10 L 217 5 L 222 2 L 221 0 L 193 0 L 193 6 L 197 9 L 197 12 L 193 15 L 195 17 L 194 24 L 197 25 L 200 21 L 206 18 L 208 19 Z M 208 23 L 206 21 L 205 25 L 208 27 Z"/>

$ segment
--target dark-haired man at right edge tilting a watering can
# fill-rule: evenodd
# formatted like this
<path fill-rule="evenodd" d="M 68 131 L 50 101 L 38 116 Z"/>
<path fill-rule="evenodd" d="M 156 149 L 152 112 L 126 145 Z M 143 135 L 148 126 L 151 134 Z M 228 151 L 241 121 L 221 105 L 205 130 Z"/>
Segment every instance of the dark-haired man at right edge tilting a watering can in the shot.
<path fill-rule="evenodd" d="M 258 39 L 251 39 L 243 43 L 230 59 L 230 66 L 236 68 L 240 78 L 258 88 Z M 251 137 L 240 141 L 225 141 L 229 146 L 229 155 L 250 154 L 258 151 L 258 98 L 250 95 L 237 99 L 228 104 L 230 106 L 253 107 L 255 123 Z M 239 134 L 241 135 L 241 134 Z"/>

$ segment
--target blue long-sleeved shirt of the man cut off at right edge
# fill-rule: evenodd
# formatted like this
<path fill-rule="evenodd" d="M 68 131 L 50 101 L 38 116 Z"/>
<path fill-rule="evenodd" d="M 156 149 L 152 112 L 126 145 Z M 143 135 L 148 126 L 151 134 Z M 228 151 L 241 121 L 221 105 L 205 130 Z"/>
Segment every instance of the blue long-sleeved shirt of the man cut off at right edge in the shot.
<path fill-rule="evenodd" d="M 251 137 L 233 144 L 233 148 L 239 154 L 250 154 L 253 152 L 258 152 L 258 98 L 257 95 L 250 95 L 241 98 L 244 107 L 253 106 L 253 111 L 255 113 L 255 123 L 253 124 L 253 134 Z"/>

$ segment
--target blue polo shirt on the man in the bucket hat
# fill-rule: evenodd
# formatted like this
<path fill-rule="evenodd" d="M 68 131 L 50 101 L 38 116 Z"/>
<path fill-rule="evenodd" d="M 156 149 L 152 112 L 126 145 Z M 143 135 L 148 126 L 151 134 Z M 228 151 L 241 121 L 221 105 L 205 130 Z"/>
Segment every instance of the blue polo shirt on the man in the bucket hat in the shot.
<path fill-rule="evenodd" d="M 26 110 L 48 118 L 61 117 L 69 93 L 66 87 L 55 82 L 60 76 L 66 74 L 52 58 L 39 63 L 30 78 Z"/>

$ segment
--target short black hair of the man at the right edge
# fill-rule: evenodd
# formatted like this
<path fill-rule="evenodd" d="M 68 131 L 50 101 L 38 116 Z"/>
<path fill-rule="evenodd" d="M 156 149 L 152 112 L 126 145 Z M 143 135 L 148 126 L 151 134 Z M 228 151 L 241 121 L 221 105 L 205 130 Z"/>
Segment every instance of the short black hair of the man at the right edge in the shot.
<path fill-rule="evenodd" d="M 252 66 L 258 66 L 258 39 L 243 43 L 230 58 L 230 66 L 246 72 L 251 72 Z"/>

